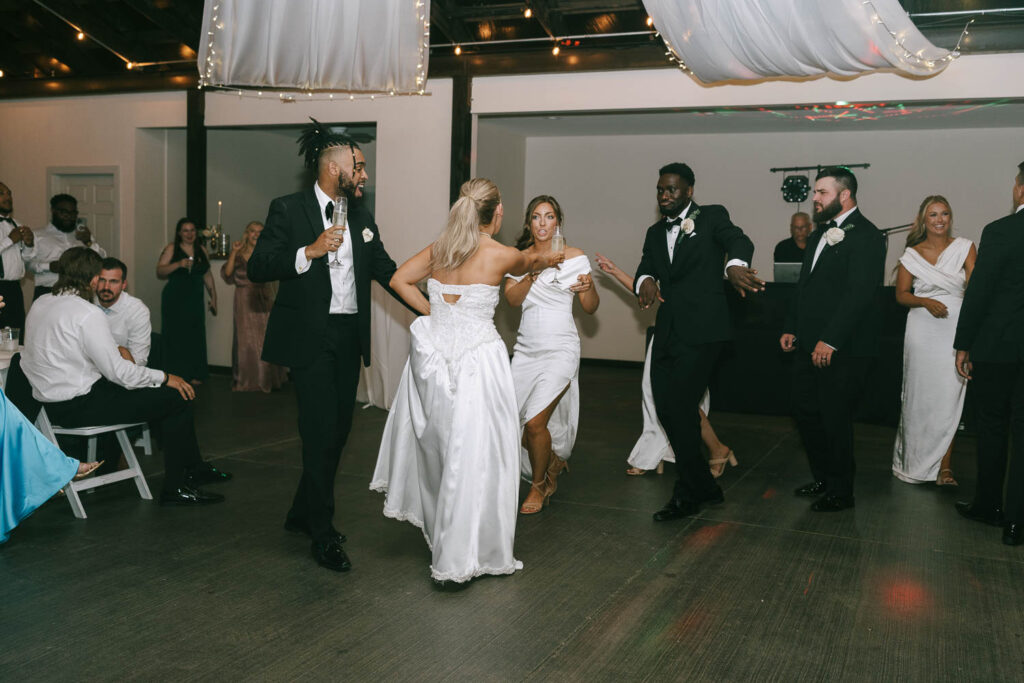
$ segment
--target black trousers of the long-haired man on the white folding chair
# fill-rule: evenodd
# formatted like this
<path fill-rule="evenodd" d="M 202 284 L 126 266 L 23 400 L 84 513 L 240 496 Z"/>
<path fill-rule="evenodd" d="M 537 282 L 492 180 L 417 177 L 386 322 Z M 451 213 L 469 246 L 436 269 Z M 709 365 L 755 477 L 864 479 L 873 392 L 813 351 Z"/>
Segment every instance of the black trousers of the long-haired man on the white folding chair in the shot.
<path fill-rule="evenodd" d="M 181 486 L 187 469 L 203 462 L 193 403 L 171 387 L 126 389 L 100 379 L 89 393 L 45 403 L 44 408 L 50 420 L 61 427 L 154 423 L 163 433 L 164 490 Z"/>

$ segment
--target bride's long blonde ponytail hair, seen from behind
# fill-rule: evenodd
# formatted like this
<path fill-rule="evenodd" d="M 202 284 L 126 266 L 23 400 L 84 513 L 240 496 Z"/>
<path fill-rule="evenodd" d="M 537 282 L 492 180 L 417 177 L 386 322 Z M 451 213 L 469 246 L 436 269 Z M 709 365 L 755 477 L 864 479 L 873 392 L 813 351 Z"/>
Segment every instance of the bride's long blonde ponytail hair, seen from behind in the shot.
<path fill-rule="evenodd" d="M 449 211 L 447 225 L 430 250 L 430 268 L 455 270 L 475 254 L 480 246 L 480 227 L 495 219 L 501 203 L 498 185 L 486 178 L 462 183 L 459 199 Z"/>

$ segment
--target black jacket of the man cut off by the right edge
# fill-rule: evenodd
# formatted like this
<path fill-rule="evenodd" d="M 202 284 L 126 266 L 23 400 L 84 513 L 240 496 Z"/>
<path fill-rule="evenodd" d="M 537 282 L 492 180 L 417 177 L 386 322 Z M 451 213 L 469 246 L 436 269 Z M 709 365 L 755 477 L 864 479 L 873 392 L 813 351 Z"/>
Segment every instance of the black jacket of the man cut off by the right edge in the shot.
<path fill-rule="evenodd" d="M 1024 211 L 985 226 L 953 347 L 972 360 L 1024 360 Z"/>

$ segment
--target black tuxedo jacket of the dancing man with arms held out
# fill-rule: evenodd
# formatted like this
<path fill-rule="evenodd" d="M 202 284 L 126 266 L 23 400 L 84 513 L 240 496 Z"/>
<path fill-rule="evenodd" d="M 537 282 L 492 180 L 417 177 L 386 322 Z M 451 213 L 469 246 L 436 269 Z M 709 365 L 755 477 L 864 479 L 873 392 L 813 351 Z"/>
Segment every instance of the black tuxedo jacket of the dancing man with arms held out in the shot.
<path fill-rule="evenodd" d="M 658 346 L 732 339 L 723 268 L 727 256 L 748 263 L 754 258 L 754 244 L 732 224 L 725 207 L 693 202 L 686 216 L 693 218 L 694 229 L 689 237 L 680 230 L 671 262 L 666 221 L 647 228 L 643 257 L 633 279 L 634 290 L 641 275 L 652 276 L 660 287 L 665 302 L 654 323 L 654 344 Z"/>

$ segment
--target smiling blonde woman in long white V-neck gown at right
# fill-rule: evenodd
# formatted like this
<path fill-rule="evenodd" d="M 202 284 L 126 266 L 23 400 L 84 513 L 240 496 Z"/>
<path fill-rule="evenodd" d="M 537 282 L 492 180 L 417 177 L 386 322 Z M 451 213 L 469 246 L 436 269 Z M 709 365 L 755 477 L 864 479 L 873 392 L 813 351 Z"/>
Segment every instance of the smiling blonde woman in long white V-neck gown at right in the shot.
<path fill-rule="evenodd" d="M 896 272 L 896 301 L 910 312 L 893 474 L 909 483 L 956 485 L 949 460 L 967 382 L 954 368 L 953 337 L 978 251 L 970 240 L 952 237 L 952 222 L 945 198 L 925 199 Z"/>

